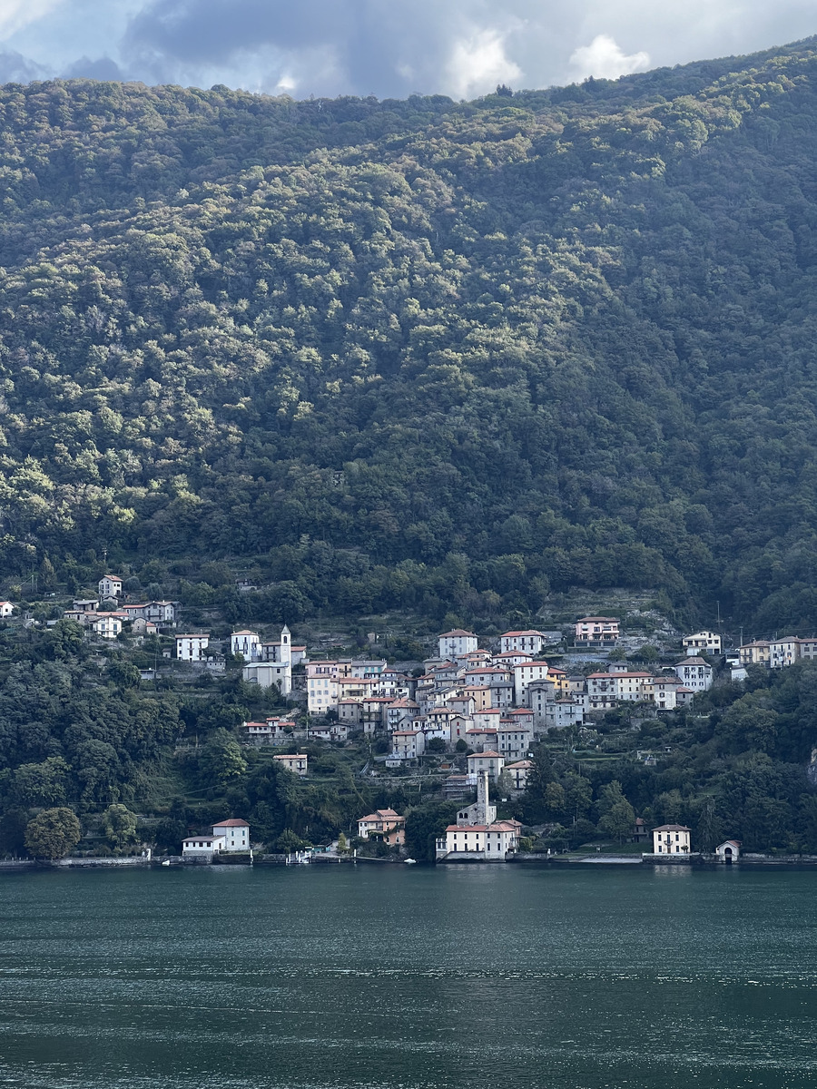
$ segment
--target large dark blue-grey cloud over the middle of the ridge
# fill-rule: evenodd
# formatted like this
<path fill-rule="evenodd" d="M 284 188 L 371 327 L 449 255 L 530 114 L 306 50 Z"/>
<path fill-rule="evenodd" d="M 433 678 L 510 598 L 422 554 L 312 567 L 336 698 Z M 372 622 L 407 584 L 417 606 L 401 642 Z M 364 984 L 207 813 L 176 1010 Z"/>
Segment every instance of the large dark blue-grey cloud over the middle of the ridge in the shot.
<path fill-rule="evenodd" d="M 122 51 L 158 78 L 227 68 L 243 72 L 244 86 L 290 79 L 305 93 L 405 95 L 452 83 L 453 44 L 505 24 L 513 20 L 485 0 L 155 0 L 131 21 Z"/>

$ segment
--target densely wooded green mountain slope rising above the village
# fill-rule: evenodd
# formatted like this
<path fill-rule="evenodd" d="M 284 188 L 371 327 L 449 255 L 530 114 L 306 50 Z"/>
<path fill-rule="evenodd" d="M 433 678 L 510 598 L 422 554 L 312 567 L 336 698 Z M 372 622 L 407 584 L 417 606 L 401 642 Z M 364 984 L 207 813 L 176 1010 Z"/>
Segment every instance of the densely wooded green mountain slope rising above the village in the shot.
<path fill-rule="evenodd" d="M 0 134 L 7 574 L 813 626 L 814 39 L 461 103 L 10 85 Z"/>

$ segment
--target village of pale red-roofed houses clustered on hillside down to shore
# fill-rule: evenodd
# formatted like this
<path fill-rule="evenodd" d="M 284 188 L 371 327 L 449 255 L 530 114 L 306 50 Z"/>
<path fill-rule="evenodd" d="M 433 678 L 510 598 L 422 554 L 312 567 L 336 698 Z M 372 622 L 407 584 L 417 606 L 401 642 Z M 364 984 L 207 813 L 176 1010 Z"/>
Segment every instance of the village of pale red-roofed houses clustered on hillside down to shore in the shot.
<path fill-rule="evenodd" d="M 426 799 L 459 803 L 463 808 L 455 820 L 436 833 L 431 854 L 439 861 L 503 860 L 536 842 L 547 844 L 548 853 L 558 848 L 558 821 L 540 824 L 532 839 L 532 830 L 511 816 L 514 807 L 519 811 L 514 799 L 524 802 L 537 775 L 537 754 L 562 749 L 574 759 L 584 752 L 585 761 L 600 760 L 609 749 L 610 722 L 630 723 L 625 729 L 641 737 L 639 723 L 694 713 L 696 698 L 714 684 L 740 685 L 752 668 L 778 671 L 817 658 L 814 638 L 788 636 L 729 648 L 719 633 L 702 631 L 679 638 L 674 658 L 643 660 L 659 656 L 647 654 L 649 648 L 634 650 L 638 638 L 622 628 L 620 617 L 586 615 L 559 628 L 510 629 L 485 639 L 455 627 L 437 636 L 434 652 L 420 662 L 393 663 L 385 657 L 325 656 L 294 643 L 285 624 L 277 638 L 265 634 L 268 626 L 233 625 L 229 636 L 220 637 L 190 631 L 180 601 L 132 601 L 123 584 L 106 574 L 96 597 L 74 598 L 62 610 L 62 621 L 51 619 L 46 626 L 73 623 L 89 647 L 137 651 L 139 683 L 148 687 L 167 671 L 182 683 L 196 677 L 214 683 L 239 672 L 246 690 L 258 693 L 258 706 L 281 707 L 236 724 L 239 745 L 268 754 L 297 780 L 312 781 L 316 754 L 349 750 L 367 754 L 358 775 L 387 792 L 415 783 Z M 7 623 L 34 623 L 26 616 L 13 602 L 0 602 Z M 671 748 L 660 745 L 636 745 L 630 758 L 656 769 L 668 752 Z M 619 840 L 646 851 L 648 822 L 634 812 L 627 820 L 626 828 L 619 827 Z M 376 847 L 399 857 L 405 854 L 405 822 L 386 805 L 361 812 L 343 831 L 355 854 Z M 674 847 L 655 840 L 653 854 L 675 849 L 694 856 L 685 824 L 657 828 L 672 829 L 680 839 Z M 235 829 L 243 839 L 236 839 Z M 291 840 L 294 846 L 296 837 Z M 729 851 L 737 852 L 740 842 L 733 842 Z M 181 857 L 212 861 L 245 849 L 251 849 L 249 824 L 233 815 L 206 831 L 191 830 Z M 332 849 L 337 853 L 337 843 Z"/>

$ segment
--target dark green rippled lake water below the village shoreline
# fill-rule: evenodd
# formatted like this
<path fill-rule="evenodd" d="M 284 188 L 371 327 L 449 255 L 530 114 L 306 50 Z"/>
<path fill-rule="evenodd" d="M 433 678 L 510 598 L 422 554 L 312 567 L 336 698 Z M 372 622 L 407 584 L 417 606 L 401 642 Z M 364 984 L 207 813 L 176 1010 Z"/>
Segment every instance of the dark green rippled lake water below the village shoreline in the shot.
<path fill-rule="evenodd" d="M 817 871 L 0 874 L 0 1087 L 817 1086 Z"/>

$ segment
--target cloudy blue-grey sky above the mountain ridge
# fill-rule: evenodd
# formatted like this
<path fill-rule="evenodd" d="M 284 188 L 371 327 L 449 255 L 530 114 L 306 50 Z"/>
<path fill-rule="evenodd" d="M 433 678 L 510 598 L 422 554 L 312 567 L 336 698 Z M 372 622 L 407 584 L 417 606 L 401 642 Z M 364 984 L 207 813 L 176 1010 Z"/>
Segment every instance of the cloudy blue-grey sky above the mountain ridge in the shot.
<path fill-rule="evenodd" d="M 459 99 L 816 33 L 815 0 L 0 0 L 0 82 Z"/>

